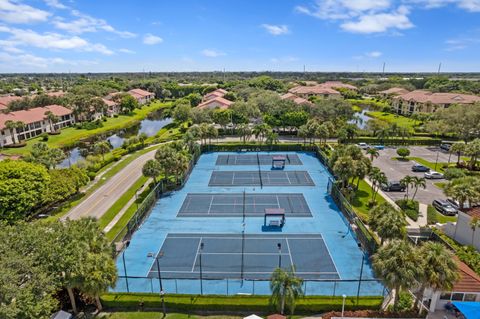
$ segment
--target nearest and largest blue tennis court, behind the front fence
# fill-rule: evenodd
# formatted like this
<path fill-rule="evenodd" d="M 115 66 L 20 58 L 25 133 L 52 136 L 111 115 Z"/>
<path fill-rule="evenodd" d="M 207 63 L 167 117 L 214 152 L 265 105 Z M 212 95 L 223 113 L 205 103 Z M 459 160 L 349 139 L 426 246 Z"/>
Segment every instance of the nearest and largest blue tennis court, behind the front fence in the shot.
<path fill-rule="evenodd" d="M 173 233 L 157 258 L 162 278 L 199 278 L 201 264 L 205 279 L 268 279 L 279 263 L 304 279 L 340 278 L 320 234 Z M 149 276 L 158 276 L 155 263 Z"/>

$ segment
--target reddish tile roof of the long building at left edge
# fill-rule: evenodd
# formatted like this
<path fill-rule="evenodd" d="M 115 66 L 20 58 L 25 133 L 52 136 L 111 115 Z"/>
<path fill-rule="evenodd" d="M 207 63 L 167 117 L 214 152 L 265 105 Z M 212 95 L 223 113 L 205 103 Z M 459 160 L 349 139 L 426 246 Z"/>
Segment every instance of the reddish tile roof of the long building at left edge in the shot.
<path fill-rule="evenodd" d="M 5 122 L 9 120 L 15 122 L 21 121 L 25 124 L 42 121 L 46 119 L 45 113 L 48 111 L 52 112 L 56 116 L 72 114 L 72 110 L 61 105 L 47 105 L 45 107 L 35 107 L 29 110 L 0 114 L 0 130 L 5 128 Z"/>

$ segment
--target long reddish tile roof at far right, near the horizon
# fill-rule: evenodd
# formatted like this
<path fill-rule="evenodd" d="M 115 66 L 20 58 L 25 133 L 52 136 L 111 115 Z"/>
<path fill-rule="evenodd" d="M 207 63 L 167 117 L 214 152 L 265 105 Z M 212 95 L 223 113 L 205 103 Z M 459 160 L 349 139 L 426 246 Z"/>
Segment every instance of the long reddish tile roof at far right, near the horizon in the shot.
<path fill-rule="evenodd" d="M 473 104 L 480 102 L 480 96 L 459 93 L 433 93 L 425 90 L 415 90 L 396 97 L 404 101 L 432 104 Z"/>

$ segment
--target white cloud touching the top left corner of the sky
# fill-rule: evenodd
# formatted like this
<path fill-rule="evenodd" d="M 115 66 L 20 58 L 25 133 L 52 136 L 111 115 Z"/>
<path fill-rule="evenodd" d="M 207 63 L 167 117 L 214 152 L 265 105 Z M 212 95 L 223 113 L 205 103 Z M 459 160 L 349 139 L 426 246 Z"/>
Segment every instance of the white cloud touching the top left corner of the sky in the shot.
<path fill-rule="evenodd" d="M 7 23 L 35 23 L 47 21 L 51 14 L 26 4 L 0 0 L 0 20 Z"/>

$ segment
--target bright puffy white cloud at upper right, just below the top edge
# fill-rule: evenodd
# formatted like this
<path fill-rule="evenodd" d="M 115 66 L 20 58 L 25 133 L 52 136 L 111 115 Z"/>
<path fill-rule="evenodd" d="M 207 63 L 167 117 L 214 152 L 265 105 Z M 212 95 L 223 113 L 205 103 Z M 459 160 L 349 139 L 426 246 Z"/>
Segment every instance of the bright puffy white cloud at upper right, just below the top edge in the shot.
<path fill-rule="evenodd" d="M 380 33 L 390 29 L 406 30 L 414 27 L 408 18 L 409 13 L 407 7 L 401 6 L 396 12 L 362 15 L 355 21 L 342 23 L 340 27 L 352 33 Z"/>

